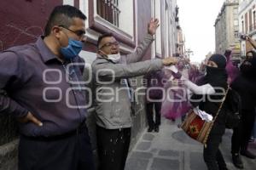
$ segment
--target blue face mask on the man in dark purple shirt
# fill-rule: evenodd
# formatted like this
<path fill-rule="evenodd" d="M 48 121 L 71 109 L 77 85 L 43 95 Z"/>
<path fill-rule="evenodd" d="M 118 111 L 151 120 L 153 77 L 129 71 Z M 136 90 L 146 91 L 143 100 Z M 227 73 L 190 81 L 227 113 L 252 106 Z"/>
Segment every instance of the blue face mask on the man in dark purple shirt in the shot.
<path fill-rule="evenodd" d="M 82 48 L 83 42 L 68 38 L 68 45 L 66 48 L 61 48 L 61 54 L 65 59 L 73 59 L 78 56 Z"/>

